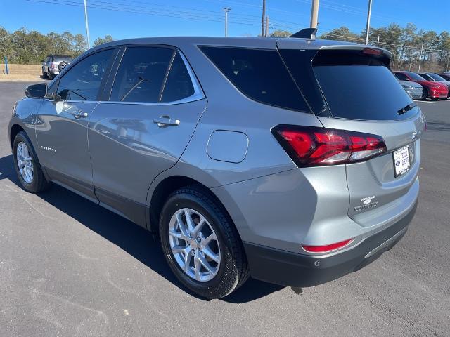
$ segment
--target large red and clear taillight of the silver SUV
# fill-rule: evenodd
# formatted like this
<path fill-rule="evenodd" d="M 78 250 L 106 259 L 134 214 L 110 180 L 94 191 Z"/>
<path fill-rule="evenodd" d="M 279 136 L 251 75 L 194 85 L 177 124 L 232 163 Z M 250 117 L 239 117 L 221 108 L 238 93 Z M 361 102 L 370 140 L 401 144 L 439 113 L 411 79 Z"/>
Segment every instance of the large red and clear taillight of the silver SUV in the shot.
<path fill-rule="evenodd" d="M 383 138 L 370 133 L 288 125 L 272 133 L 300 167 L 350 164 L 386 151 Z"/>

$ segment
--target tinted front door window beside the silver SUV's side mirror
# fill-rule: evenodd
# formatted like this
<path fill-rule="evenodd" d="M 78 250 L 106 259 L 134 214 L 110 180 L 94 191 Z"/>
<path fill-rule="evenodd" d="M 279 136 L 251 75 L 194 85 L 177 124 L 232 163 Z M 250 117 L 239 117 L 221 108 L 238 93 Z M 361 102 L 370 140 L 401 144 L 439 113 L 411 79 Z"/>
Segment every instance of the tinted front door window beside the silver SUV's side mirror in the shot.
<path fill-rule="evenodd" d="M 61 77 L 56 92 L 60 100 L 96 100 L 113 49 L 99 51 L 78 62 Z"/>

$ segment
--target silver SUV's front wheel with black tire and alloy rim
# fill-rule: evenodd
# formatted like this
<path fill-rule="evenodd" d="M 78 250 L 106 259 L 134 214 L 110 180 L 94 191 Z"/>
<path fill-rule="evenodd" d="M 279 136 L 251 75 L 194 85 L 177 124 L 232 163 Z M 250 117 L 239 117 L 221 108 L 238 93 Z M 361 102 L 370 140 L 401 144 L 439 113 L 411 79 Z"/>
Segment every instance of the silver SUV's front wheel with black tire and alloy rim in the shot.
<path fill-rule="evenodd" d="M 20 148 L 23 150 L 23 145 L 26 146 L 26 153 L 29 154 L 28 156 L 21 156 L 18 153 L 18 147 L 20 145 Z M 32 179 L 30 180 L 30 174 L 21 173 L 20 167 L 19 167 L 19 159 L 29 157 L 30 160 L 23 160 L 27 162 L 27 164 L 24 164 L 27 166 L 27 168 L 32 168 Z M 13 158 L 14 158 L 14 168 L 15 173 L 17 173 L 18 179 L 20 181 L 20 185 L 23 188 L 23 190 L 30 192 L 30 193 L 39 193 L 41 191 L 46 190 L 49 187 L 49 182 L 46 180 L 44 173 L 42 172 L 41 164 L 39 164 L 39 159 L 37 159 L 37 154 L 34 151 L 34 147 L 30 141 L 30 138 L 28 138 L 25 131 L 20 131 L 14 138 L 13 142 Z M 22 165 L 21 165 L 22 166 Z M 25 169 L 24 166 L 24 169 Z M 24 171 L 23 169 L 23 171 Z M 29 171 L 28 171 L 29 172 Z"/>

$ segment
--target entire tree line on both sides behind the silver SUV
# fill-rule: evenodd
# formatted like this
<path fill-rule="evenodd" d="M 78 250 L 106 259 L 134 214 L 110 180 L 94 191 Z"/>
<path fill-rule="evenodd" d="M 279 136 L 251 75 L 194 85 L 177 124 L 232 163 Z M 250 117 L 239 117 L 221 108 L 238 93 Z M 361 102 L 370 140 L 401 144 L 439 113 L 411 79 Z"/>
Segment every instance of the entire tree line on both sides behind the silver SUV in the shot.
<path fill-rule="evenodd" d="M 320 30 L 319 30 L 320 32 Z M 292 32 L 277 30 L 272 37 L 288 37 Z M 364 43 L 366 32 L 352 32 L 342 26 L 320 35 L 319 39 L 344 40 Z M 106 35 L 94 41 L 94 46 L 113 41 Z M 426 31 L 418 29 L 412 23 L 401 27 L 392 23 L 386 27 L 373 28 L 369 34 L 369 43 L 378 45 L 392 53 L 391 67 L 394 70 L 442 72 L 450 67 L 449 32 Z M 34 30 L 21 28 L 8 32 L 0 26 L 0 57 L 8 62 L 20 64 L 38 64 L 46 55 L 59 54 L 76 57 L 88 48 L 82 34 L 51 32 L 41 34 Z M 1 61 L 0 61 L 1 62 Z"/>

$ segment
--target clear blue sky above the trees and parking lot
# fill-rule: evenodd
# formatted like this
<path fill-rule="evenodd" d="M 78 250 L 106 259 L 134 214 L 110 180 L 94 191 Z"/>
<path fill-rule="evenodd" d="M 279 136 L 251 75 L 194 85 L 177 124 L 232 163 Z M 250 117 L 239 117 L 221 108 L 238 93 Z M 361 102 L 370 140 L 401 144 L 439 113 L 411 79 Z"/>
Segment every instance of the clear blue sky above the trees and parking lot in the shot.
<path fill-rule="evenodd" d="M 9 31 L 27 27 L 44 34 L 85 34 L 83 0 L 1 0 L 0 25 Z M 319 34 L 346 25 L 361 32 L 366 25 L 367 0 L 321 0 Z M 91 43 L 105 34 L 129 37 L 224 34 L 229 7 L 229 35 L 261 31 L 262 0 L 88 0 Z M 271 30 L 295 31 L 309 25 L 311 0 L 266 0 Z M 114 10 L 107 10 L 112 8 Z M 7 13 L 7 14 L 6 14 Z M 443 13 L 446 13 L 443 15 Z M 373 0 L 372 27 L 413 22 L 419 29 L 450 30 L 450 1 Z"/>

